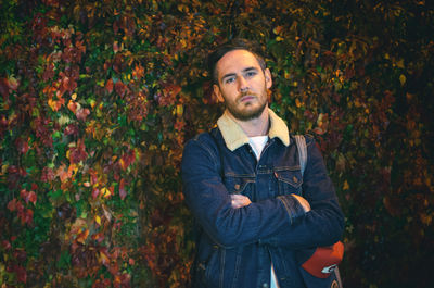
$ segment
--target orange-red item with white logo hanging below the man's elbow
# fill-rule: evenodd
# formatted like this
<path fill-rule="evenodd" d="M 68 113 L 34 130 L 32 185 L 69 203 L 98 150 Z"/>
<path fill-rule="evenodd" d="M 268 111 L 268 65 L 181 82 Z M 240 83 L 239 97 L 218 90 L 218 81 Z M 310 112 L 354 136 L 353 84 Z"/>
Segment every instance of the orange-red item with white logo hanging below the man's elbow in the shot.
<path fill-rule="evenodd" d="M 329 247 L 318 247 L 314 254 L 303 263 L 302 267 L 318 278 L 327 278 L 343 258 L 344 245 L 337 241 Z"/>

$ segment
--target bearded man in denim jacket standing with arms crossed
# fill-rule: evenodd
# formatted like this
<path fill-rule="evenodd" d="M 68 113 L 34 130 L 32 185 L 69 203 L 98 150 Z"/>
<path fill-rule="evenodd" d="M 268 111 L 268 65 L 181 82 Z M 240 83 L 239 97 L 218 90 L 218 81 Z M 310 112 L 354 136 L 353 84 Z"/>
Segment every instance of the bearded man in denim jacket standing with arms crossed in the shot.
<path fill-rule="evenodd" d="M 268 108 L 271 73 L 251 42 L 228 42 L 208 62 L 226 111 L 182 156 L 183 192 L 200 227 L 193 286 L 331 287 L 333 275 L 302 267 L 306 252 L 335 243 L 344 226 L 315 140 L 306 137 L 302 176 L 295 140 Z"/>

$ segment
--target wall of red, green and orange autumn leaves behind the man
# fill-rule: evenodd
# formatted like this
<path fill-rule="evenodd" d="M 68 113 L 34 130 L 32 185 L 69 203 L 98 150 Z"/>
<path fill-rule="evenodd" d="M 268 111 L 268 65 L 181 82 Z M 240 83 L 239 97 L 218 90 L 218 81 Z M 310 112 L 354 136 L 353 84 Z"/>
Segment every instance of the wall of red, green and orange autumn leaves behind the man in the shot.
<path fill-rule="evenodd" d="M 1 287 L 187 287 L 182 147 L 221 112 L 203 55 L 259 41 L 346 215 L 346 287 L 429 287 L 434 10 L 425 1 L 2 0 Z"/>

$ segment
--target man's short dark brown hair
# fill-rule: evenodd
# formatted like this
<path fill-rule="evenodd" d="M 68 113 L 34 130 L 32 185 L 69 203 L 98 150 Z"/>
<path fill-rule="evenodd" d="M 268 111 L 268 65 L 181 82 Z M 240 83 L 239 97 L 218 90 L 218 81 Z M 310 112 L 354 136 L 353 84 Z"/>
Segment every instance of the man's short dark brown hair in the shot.
<path fill-rule="evenodd" d="M 214 84 L 218 84 L 216 71 L 217 62 L 226 55 L 226 53 L 234 50 L 246 50 L 251 52 L 258 61 L 260 68 L 263 71 L 266 68 L 263 51 L 257 42 L 244 38 L 233 38 L 218 46 L 207 58 L 208 75 L 212 77 Z"/>

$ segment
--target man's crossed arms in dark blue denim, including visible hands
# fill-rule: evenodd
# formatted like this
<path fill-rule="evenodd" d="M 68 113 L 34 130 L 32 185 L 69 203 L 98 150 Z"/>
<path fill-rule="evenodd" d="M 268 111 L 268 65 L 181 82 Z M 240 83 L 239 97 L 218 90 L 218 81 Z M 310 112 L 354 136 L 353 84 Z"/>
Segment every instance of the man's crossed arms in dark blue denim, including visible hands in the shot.
<path fill-rule="evenodd" d="M 200 141 L 186 146 L 182 159 L 186 201 L 217 245 L 228 248 L 259 241 L 303 249 L 332 245 L 340 239 L 343 215 L 322 162 L 310 168 L 316 177 L 320 175 L 320 181 L 304 184 L 305 198 L 283 195 L 251 202 L 242 195 L 228 192 L 215 164 L 218 161 L 210 148 Z"/>

